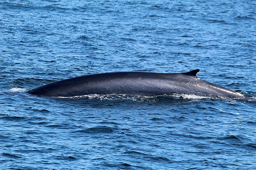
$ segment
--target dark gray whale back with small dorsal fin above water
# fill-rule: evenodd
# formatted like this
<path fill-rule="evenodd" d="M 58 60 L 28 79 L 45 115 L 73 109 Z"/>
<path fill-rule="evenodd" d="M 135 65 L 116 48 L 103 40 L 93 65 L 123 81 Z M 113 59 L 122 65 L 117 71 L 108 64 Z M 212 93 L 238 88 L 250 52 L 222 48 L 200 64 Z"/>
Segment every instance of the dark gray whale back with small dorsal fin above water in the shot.
<path fill-rule="evenodd" d="M 72 97 L 88 94 L 151 96 L 166 93 L 216 95 L 244 98 L 244 95 L 201 80 L 199 70 L 185 73 L 112 72 L 79 76 L 53 82 L 27 93 L 40 96 Z"/>

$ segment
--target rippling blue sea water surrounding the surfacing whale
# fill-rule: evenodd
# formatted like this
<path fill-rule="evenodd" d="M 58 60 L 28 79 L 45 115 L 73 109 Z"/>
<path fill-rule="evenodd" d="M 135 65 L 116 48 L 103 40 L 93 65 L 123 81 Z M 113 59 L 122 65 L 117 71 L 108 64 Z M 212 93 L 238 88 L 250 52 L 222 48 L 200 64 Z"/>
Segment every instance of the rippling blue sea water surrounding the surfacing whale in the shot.
<path fill-rule="evenodd" d="M 256 169 L 255 9 L 0 0 L 0 169 Z M 25 93 L 93 73 L 194 69 L 246 98 Z"/>

